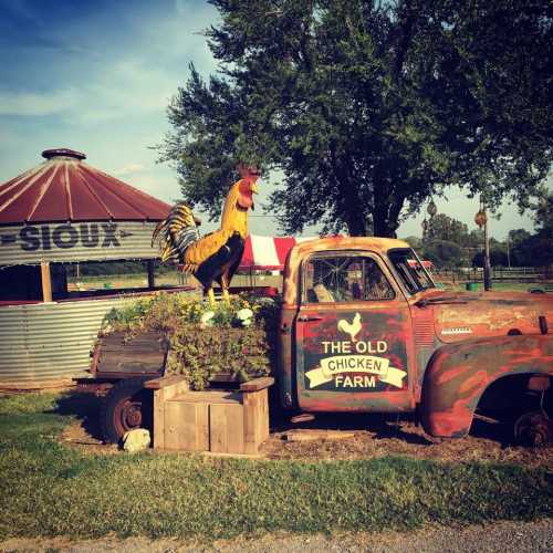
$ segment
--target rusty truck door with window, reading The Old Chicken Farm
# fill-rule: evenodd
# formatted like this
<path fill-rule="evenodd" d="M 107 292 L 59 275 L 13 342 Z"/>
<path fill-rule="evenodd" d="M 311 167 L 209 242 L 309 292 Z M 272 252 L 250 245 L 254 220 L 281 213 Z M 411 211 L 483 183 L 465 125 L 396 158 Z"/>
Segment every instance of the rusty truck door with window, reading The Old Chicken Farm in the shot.
<path fill-rule="evenodd" d="M 294 323 L 300 408 L 411 410 L 410 312 L 383 260 L 371 252 L 315 252 L 301 271 Z"/>

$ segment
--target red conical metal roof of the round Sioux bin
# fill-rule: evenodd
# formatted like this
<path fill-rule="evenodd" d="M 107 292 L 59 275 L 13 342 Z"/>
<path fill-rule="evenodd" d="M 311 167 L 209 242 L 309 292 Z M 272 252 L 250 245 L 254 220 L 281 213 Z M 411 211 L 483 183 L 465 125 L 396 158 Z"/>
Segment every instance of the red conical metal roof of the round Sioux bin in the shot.
<path fill-rule="evenodd" d="M 83 163 L 80 152 L 42 153 L 46 161 L 0 185 L 0 225 L 49 221 L 159 221 L 170 206 Z"/>

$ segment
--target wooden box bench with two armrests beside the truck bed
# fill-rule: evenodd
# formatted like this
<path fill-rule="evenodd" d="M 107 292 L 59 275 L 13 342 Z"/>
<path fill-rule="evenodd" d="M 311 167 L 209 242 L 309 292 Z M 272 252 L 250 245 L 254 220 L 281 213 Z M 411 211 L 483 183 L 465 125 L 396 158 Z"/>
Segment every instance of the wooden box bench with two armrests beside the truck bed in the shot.
<path fill-rule="evenodd" d="M 148 380 L 154 390 L 154 448 L 257 455 L 269 438 L 268 388 L 274 378 L 243 383 L 237 390 L 191 392 L 186 378 Z"/>

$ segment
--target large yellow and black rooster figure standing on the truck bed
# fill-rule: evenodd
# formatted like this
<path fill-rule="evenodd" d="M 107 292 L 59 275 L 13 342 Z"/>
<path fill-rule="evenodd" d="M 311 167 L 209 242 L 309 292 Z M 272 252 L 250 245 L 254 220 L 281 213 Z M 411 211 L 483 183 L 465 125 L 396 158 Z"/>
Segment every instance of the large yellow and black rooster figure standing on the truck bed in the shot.
<path fill-rule="evenodd" d="M 225 200 L 219 230 L 199 236 L 197 219 L 182 201 L 176 204 L 167 218 L 160 221 L 152 237 L 161 251 L 161 262 L 169 259 L 182 264 L 204 286 L 211 305 L 215 305 L 213 281 L 229 301 L 230 281 L 240 264 L 248 234 L 248 210 L 253 209 L 253 194 L 258 192 L 259 170 L 239 166 L 241 179 L 234 182 Z"/>

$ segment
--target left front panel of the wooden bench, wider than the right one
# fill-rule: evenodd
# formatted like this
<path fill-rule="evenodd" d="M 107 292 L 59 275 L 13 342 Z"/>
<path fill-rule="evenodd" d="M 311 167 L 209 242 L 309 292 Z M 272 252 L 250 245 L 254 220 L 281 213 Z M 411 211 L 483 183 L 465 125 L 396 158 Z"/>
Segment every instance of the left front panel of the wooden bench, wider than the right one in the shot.
<path fill-rule="evenodd" d="M 165 403 L 165 449 L 209 449 L 209 406 L 182 401 Z"/>

